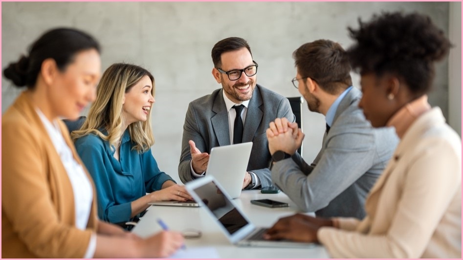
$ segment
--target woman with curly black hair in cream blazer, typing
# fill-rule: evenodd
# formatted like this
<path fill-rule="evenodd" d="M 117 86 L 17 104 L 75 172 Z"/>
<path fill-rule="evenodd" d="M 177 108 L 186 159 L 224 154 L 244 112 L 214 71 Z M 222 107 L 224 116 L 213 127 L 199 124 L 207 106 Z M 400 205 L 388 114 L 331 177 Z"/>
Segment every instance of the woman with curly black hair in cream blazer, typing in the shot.
<path fill-rule="evenodd" d="M 360 28 L 348 50 L 361 75 L 359 106 L 401 139 L 365 202 L 363 220 L 295 215 L 267 239 L 318 241 L 336 258 L 461 258 L 462 142 L 427 93 L 434 62 L 451 46 L 431 20 L 386 13 Z"/>

